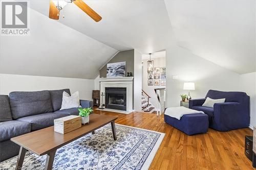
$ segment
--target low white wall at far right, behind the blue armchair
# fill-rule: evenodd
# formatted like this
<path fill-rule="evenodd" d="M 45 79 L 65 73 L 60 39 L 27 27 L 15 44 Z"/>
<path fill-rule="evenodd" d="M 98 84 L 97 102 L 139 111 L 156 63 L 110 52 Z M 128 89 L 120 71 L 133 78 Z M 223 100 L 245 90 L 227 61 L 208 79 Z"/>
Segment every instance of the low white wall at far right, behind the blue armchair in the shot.
<path fill-rule="evenodd" d="M 250 96 L 250 126 L 256 126 L 256 72 L 240 75 L 239 85 Z"/>

